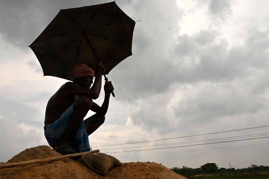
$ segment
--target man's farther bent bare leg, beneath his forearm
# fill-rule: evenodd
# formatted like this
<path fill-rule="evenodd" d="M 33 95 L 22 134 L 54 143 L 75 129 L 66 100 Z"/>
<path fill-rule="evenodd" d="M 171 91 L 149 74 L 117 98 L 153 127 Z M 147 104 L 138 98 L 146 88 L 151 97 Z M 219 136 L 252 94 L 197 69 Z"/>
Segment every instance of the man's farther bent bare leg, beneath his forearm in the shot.
<path fill-rule="evenodd" d="M 105 116 L 100 116 L 98 114 L 94 114 L 91 117 L 85 119 L 84 124 L 88 135 L 98 129 L 104 123 L 104 121 Z"/>

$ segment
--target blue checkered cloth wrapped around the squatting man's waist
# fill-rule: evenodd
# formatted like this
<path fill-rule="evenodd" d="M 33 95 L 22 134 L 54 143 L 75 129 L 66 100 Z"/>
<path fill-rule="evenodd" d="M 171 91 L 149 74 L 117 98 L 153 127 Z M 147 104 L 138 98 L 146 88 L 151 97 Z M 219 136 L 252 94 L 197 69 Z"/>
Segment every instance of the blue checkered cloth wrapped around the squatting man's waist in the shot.
<path fill-rule="evenodd" d="M 54 123 L 46 124 L 44 126 L 45 138 L 48 144 L 54 148 L 57 143 L 61 140 L 63 133 L 65 132 L 69 119 L 74 112 L 72 104 L 62 115 L 54 121 Z M 85 129 L 84 121 L 81 122 L 80 126 L 77 128 L 77 134 L 75 136 L 75 141 L 73 141 L 77 146 L 76 150 L 78 152 L 87 152 L 90 150 L 88 133 Z"/>

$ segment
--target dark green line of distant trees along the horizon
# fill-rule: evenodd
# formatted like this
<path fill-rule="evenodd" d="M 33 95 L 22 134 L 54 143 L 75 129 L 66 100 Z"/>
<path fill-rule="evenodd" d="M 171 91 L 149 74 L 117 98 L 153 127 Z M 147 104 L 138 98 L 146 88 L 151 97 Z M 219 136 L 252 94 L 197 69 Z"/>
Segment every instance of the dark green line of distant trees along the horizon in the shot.
<path fill-rule="evenodd" d="M 216 163 L 206 163 L 199 168 L 191 168 L 187 166 L 182 166 L 182 168 L 173 167 L 170 168 L 172 171 L 183 176 L 192 176 L 199 174 L 224 174 L 224 173 L 246 173 L 246 172 L 268 172 L 269 166 L 257 166 L 252 165 L 247 168 L 235 169 L 235 168 L 219 168 Z"/>

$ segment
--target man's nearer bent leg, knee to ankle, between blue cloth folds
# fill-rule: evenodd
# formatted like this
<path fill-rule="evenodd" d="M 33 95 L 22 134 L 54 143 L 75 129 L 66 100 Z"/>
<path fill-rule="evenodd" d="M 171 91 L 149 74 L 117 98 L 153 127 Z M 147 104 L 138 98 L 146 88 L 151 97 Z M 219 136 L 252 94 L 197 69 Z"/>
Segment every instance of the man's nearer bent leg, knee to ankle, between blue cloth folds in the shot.
<path fill-rule="evenodd" d="M 74 139 L 77 133 L 77 128 L 83 121 L 84 117 L 91 109 L 92 101 L 85 95 L 80 96 L 78 100 L 74 103 L 73 114 L 69 119 L 69 124 L 62 135 L 62 140 L 58 143 L 58 146 L 69 145 L 68 139 Z"/>

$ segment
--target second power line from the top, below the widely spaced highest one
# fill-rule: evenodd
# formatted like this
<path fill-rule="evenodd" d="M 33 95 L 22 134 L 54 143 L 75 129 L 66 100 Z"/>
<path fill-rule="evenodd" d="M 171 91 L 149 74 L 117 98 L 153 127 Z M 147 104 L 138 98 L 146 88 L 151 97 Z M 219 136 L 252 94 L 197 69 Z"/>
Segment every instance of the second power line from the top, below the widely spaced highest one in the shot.
<path fill-rule="evenodd" d="M 269 132 L 268 132 L 269 133 Z M 265 134 L 269 135 L 269 134 Z M 112 149 L 101 149 L 103 150 L 118 150 L 118 149 L 135 149 L 135 148 L 143 148 L 143 147 L 155 147 L 155 146 L 169 146 L 169 145 L 177 145 L 177 144 L 185 144 L 185 143 L 201 143 L 201 142 L 212 142 L 212 141 L 222 141 L 222 140 L 230 140 L 230 139 L 239 139 L 239 138 L 250 138 L 250 137 L 260 137 L 265 135 L 255 135 L 255 136 L 247 136 L 247 137 L 241 137 L 241 136 L 235 136 L 235 137 L 229 137 L 226 139 L 223 138 L 216 138 L 216 139 L 205 139 L 205 140 L 198 140 L 198 141 L 186 141 L 186 142 L 175 142 L 175 143 L 164 143 L 164 144 L 155 144 L 155 145 L 145 145 L 145 146 L 132 146 L 132 147 L 123 147 L 123 148 L 112 148 Z"/>

